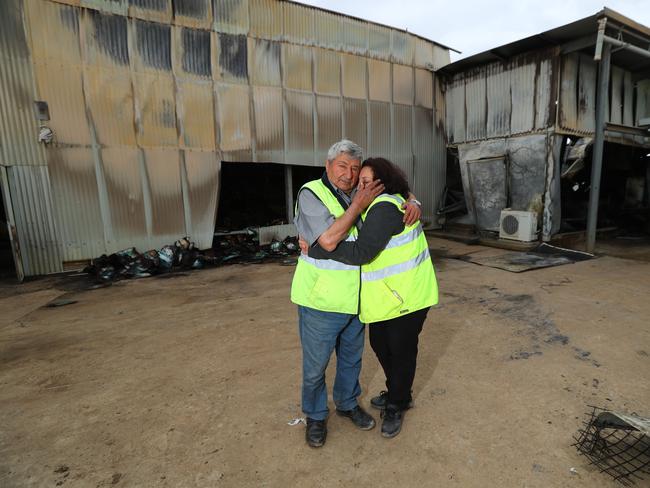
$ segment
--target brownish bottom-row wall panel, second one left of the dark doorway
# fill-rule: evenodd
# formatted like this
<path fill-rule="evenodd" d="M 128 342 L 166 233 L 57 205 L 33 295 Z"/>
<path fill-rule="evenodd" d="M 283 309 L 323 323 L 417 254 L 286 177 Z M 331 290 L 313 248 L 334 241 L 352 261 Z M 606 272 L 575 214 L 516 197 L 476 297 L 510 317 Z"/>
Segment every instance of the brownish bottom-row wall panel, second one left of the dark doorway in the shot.
<path fill-rule="evenodd" d="M 154 247 L 185 234 L 178 149 L 145 149 L 151 198 L 151 242 Z"/>

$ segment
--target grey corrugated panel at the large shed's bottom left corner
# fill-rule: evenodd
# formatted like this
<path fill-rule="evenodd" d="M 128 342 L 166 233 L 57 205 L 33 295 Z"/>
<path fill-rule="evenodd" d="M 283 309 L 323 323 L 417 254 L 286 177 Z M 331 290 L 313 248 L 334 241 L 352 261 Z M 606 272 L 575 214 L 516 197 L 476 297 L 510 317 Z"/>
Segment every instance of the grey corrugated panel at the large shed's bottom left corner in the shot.
<path fill-rule="evenodd" d="M 10 166 L 7 176 L 25 275 L 63 271 L 47 166 Z"/>

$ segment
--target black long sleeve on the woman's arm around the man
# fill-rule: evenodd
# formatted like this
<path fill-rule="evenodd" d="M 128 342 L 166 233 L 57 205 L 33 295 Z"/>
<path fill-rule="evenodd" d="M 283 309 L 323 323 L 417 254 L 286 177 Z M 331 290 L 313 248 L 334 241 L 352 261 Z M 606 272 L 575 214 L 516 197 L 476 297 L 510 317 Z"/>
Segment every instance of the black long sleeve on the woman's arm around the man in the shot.
<path fill-rule="evenodd" d="M 379 202 L 366 215 L 356 241 L 340 242 L 332 252 L 315 244 L 309 248 L 309 257 L 333 259 L 354 266 L 369 263 L 386 247 L 392 236 L 404 230 L 403 218 L 404 214 L 395 204 Z"/>

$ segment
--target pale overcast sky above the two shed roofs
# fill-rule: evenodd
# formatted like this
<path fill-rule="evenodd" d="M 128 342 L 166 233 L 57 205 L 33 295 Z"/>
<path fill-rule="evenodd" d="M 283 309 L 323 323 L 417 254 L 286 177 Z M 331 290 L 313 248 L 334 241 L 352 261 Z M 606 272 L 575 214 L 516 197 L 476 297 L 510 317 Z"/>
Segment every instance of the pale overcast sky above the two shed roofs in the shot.
<path fill-rule="evenodd" d="M 600 11 L 605 0 L 299 0 L 408 29 L 470 56 Z M 610 9 L 650 26 L 650 0 L 609 0 Z"/>

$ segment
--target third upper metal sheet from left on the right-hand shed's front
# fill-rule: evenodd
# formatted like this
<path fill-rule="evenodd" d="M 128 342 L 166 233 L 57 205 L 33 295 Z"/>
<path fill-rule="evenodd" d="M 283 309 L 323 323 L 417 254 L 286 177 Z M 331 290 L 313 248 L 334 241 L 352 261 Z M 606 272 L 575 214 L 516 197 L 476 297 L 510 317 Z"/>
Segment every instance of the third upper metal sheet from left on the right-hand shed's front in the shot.
<path fill-rule="evenodd" d="M 502 64 L 490 65 L 487 71 L 487 136 L 510 133 L 510 72 Z"/>

